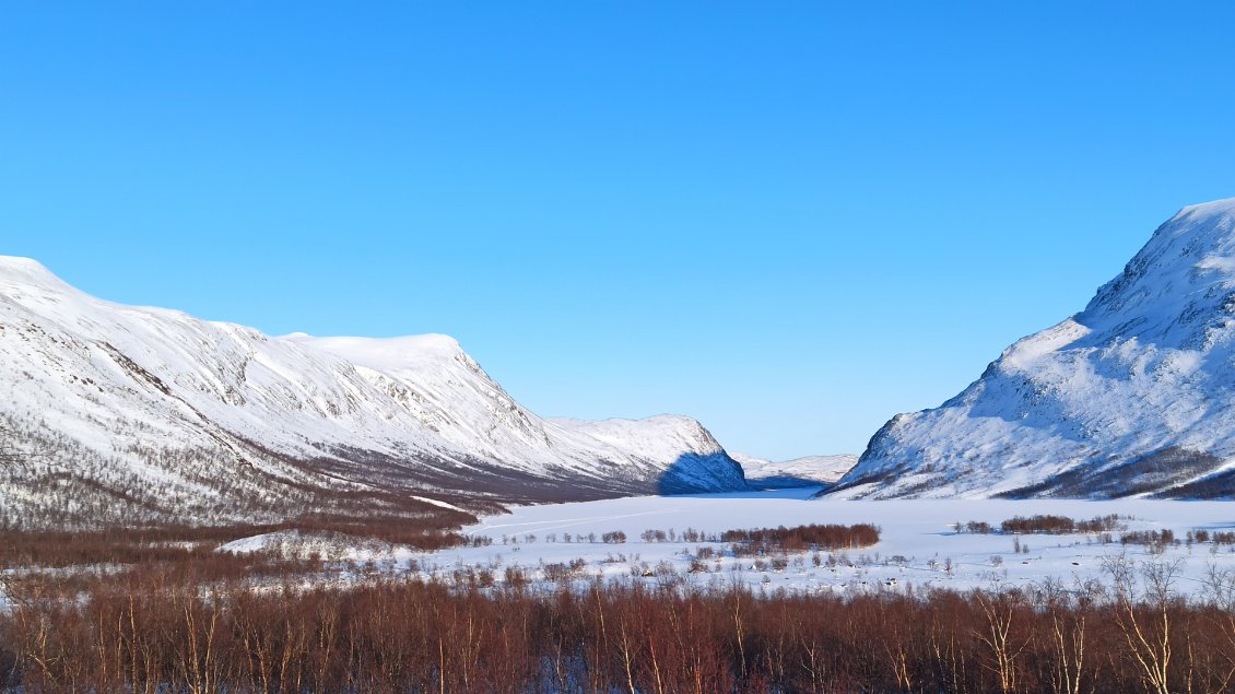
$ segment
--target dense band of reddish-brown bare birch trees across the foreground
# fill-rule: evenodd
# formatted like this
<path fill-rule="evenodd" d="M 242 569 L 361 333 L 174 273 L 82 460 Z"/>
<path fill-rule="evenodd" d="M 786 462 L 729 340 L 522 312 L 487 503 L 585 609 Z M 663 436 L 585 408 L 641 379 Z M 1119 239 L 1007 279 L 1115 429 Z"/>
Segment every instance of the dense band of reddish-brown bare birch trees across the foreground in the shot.
<path fill-rule="evenodd" d="M 0 690 L 1229 692 L 1235 575 L 1187 601 L 1177 571 L 1113 559 L 1084 590 L 852 596 L 537 592 L 511 569 L 259 590 L 158 568 L 72 589 L 10 578 Z"/>

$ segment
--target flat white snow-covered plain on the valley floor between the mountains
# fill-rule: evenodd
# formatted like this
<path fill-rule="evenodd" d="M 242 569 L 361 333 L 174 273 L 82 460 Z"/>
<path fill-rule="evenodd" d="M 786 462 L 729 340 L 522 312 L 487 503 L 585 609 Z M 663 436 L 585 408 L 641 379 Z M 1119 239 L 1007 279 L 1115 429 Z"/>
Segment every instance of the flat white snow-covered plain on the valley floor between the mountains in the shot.
<path fill-rule="evenodd" d="M 573 574 L 579 587 L 600 575 L 606 580 L 650 585 L 676 582 L 706 589 L 740 584 L 756 592 L 785 589 L 840 594 L 929 588 L 998 589 L 1042 584 L 1047 578 L 1070 589 L 1088 589 L 1094 582 L 1109 585 L 1104 559 L 1123 556 L 1137 566 L 1181 561 L 1174 588 L 1182 594 L 1199 595 L 1212 567 L 1235 571 L 1231 546 L 1186 542 L 1188 532 L 1197 529 L 1235 530 L 1235 504 L 1226 501 L 811 500 L 810 495 L 818 489 L 519 506 L 510 514 L 484 516 L 479 524 L 463 529 L 471 537 L 490 538 L 489 546 L 438 552 L 347 547 L 338 552 L 341 558 L 372 561 L 388 571 L 412 571 L 443 580 L 464 577 L 471 569 L 492 572 L 495 583 L 500 584 L 506 569 L 522 569 L 526 578 L 541 588 L 555 585 L 546 579 L 546 569 L 561 572 L 562 564 L 577 559 L 583 559 Z M 955 527 L 957 522 L 968 521 L 986 521 L 998 527 L 1004 520 L 1037 514 L 1078 521 L 1115 514 L 1126 516 L 1120 521 L 1126 529 L 1113 531 L 1113 541 L 1104 543 L 1099 533 L 977 535 L 957 532 Z M 682 537 L 690 530 L 710 536 L 732 529 L 858 522 L 882 529 L 878 545 L 820 552 L 818 566 L 810 552 L 790 553 L 788 566 L 781 571 L 772 567 L 769 558 L 763 562 L 755 557 L 735 558 L 727 543 L 690 542 Z M 641 536 L 648 530 L 664 531 L 672 540 L 646 541 Z M 1172 530 L 1179 543 L 1156 553 L 1142 545 L 1119 542 L 1121 532 L 1150 530 Z M 601 536 L 613 531 L 625 532 L 626 541 L 603 542 Z M 1023 548 L 1019 553 L 1014 550 L 1018 541 Z M 252 550 L 262 545 L 263 540 L 253 538 L 237 541 L 228 548 Z M 715 557 L 703 562 L 706 572 L 692 573 L 692 561 L 706 547 Z"/>

